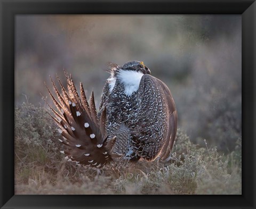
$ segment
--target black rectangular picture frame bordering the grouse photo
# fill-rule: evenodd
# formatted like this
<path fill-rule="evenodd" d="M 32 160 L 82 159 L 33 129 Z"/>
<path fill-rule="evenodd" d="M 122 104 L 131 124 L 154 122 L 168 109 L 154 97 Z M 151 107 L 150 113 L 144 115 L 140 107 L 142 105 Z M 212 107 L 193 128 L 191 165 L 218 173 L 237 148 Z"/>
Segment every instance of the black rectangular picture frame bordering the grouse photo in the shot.
<path fill-rule="evenodd" d="M 255 1 L 1 0 L 0 6 L 1 208 L 255 208 Z M 241 14 L 242 195 L 14 195 L 14 16 L 16 14 Z"/>

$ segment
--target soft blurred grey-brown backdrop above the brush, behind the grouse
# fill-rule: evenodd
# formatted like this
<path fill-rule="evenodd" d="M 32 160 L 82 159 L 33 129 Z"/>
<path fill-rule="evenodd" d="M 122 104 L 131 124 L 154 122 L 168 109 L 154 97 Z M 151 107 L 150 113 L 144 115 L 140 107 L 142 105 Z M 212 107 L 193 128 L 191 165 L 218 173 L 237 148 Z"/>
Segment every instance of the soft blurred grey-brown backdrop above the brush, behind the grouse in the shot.
<path fill-rule="evenodd" d="M 56 73 L 64 81 L 63 69 L 99 105 L 106 63 L 139 60 L 170 87 L 178 126 L 192 141 L 234 150 L 242 135 L 241 16 L 18 15 L 15 23 L 17 105 L 44 106 L 44 81 Z"/>

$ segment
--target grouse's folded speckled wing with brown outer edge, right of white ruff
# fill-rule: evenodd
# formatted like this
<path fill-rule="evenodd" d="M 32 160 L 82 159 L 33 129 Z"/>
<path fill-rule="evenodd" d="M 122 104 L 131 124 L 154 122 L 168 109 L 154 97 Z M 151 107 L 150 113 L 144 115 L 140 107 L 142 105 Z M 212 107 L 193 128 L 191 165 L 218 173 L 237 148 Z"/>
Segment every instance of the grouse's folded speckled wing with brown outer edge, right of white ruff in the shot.
<path fill-rule="evenodd" d="M 153 135 L 149 133 L 145 143 L 148 141 L 148 147 L 156 153 L 147 160 L 154 160 L 157 156 L 165 160 L 170 155 L 177 131 L 177 110 L 171 91 L 161 80 L 145 74 L 140 81 L 138 97 L 141 101 L 141 121 L 146 121 L 147 130 L 154 132 Z M 149 149 L 148 154 L 154 151 Z"/>

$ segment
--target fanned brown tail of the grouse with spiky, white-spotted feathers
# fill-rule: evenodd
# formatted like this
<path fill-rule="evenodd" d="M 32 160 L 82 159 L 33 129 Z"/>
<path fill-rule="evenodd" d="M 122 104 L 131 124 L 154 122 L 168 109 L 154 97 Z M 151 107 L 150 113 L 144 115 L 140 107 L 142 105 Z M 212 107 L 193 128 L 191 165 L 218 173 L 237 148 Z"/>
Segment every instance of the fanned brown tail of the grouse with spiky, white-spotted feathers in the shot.
<path fill-rule="evenodd" d="M 54 116 L 49 114 L 59 126 L 58 131 L 63 138 L 59 139 L 59 141 L 66 147 L 64 151 L 60 152 L 66 155 L 65 158 L 67 158 L 68 161 L 101 168 L 103 165 L 113 160 L 113 157 L 119 157 L 111 153 L 116 138 L 108 139 L 108 136 L 106 136 L 106 109 L 98 119 L 93 92 L 88 102 L 82 83 L 80 83 L 81 96 L 79 96 L 71 75 L 68 76 L 65 72 L 65 76 L 67 79 L 68 92 L 63 87 L 58 76 L 57 79 L 60 83 L 61 93 L 58 91 L 51 78 L 58 101 L 45 84 L 58 110 L 55 111 L 45 101 Z"/>

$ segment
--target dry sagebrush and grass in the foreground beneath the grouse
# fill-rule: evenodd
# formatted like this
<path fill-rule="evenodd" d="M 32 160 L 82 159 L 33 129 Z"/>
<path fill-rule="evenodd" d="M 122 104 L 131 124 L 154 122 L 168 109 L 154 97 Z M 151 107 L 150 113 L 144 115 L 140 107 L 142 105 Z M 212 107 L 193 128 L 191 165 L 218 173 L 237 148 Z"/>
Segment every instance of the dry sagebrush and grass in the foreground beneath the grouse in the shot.
<path fill-rule="evenodd" d="M 15 108 L 15 194 L 242 194 L 241 138 L 221 155 L 178 130 L 168 162 L 93 170 L 65 161 L 59 137 L 45 108 Z"/>

